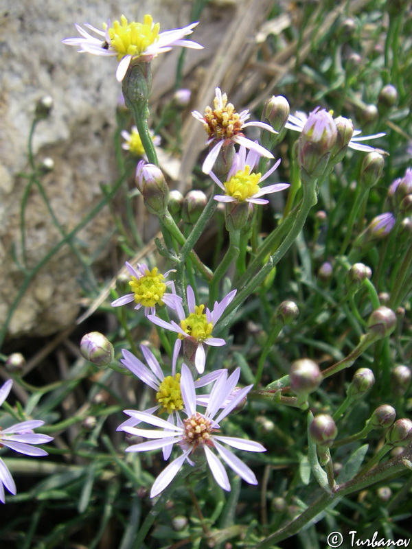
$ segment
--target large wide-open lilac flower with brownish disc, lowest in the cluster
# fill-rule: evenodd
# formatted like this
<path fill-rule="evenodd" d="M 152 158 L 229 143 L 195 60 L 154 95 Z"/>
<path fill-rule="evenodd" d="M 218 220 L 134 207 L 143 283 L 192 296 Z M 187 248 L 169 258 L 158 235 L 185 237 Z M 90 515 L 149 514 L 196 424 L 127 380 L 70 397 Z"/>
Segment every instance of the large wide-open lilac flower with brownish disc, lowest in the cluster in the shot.
<path fill-rule="evenodd" d="M 205 452 L 205 458 L 211 473 L 222 489 L 229 491 L 230 482 L 225 467 L 223 467 L 218 456 L 212 452 L 212 449 L 216 450 L 220 458 L 243 480 L 249 482 L 249 484 L 258 484 L 253 471 L 227 447 L 223 446 L 222 443 L 246 452 L 265 452 L 266 448 L 258 442 L 240 439 L 235 436 L 214 434 L 214 432 L 220 429 L 219 422 L 236 408 L 252 388 L 252 385 L 249 385 L 241 389 L 236 397 L 233 397 L 229 404 L 220 410 L 222 402 L 229 399 L 233 388 L 235 388 L 239 375 L 239 368 L 229 378 L 227 377 L 227 371 L 223 371 L 211 390 L 205 413 L 201 413 L 196 410 L 196 389 L 192 374 L 186 364 L 182 364 L 181 391 L 187 419 L 179 425 L 174 425 L 151 414 L 134 412 L 137 419 L 149 425 L 159 427 L 160 430 L 139 429 L 135 427 L 124 428 L 124 431 L 130 434 L 152 439 L 130 446 L 126 449 L 126 452 L 146 452 L 146 450 L 170 447 L 174 444 L 178 444 L 183 451 L 183 454 L 172 461 L 157 477 L 150 491 L 150 498 L 154 498 L 155 495 L 158 495 L 168 487 L 186 460 L 187 463 L 194 466 L 196 451 L 202 450 Z"/>

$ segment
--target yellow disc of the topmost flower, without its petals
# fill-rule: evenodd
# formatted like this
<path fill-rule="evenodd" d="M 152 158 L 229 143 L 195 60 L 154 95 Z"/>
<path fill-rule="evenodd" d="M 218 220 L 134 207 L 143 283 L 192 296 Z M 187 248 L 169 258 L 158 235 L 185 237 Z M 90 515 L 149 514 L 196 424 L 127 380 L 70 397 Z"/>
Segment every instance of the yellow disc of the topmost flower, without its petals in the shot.
<path fill-rule="evenodd" d="M 106 26 L 104 28 L 106 29 Z M 127 55 L 139 57 L 148 46 L 157 42 L 159 29 L 159 23 L 153 25 L 151 15 L 144 16 L 144 23 L 128 23 L 122 15 L 120 22 L 115 21 L 113 27 L 108 28 L 110 45 L 117 51 L 117 60 L 120 61 Z"/>

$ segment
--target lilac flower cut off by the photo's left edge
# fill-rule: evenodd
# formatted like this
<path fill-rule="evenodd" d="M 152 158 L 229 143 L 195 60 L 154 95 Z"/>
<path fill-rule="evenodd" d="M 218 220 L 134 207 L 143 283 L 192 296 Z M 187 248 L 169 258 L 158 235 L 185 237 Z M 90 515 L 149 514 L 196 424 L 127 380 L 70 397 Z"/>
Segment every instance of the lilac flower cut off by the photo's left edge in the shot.
<path fill-rule="evenodd" d="M 10 393 L 12 388 L 12 379 L 8 379 L 0 387 L 0 406 Z M 19 454 L 27 456 L 47 456 L 47 452 L 41 448 L 33 447 L 32 444 L 45 444 L 53 440 L 52 436 L 47 434 L 37 434 L 33 429 L 41 427 L 45 422 L 38 420 L 22 421 L 16 423 L 7 429 L 0 429 L 0 447 L 6 446 Z M 4 461 L 0 458 L 0 501 L 5 502 L 4 487 L 13 495 L 16 495 L 16 484 L 6 467 Z"/>

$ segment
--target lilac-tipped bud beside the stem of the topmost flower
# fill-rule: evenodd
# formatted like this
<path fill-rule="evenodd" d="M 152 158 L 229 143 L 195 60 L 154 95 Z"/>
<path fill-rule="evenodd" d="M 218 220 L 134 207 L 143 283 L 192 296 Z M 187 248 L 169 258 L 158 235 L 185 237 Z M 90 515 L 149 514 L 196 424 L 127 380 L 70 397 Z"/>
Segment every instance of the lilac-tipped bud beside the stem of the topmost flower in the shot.
<path fill-rule="evenodd" d="M 165 213 L 168 209 L 169 187 L 161 169 L 141 160 L 137 164 L 135 182 L 148 211 L 156 215 Z"/>

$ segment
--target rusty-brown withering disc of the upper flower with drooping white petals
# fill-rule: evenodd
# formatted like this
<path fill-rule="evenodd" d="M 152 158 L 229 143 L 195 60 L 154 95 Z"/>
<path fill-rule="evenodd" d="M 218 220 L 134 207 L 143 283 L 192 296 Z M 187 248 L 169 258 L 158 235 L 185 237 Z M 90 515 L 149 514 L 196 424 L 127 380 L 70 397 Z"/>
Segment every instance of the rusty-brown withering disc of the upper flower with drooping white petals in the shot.
<path fill-rule="evenodd" d="M 227 95 L 222 95 L 222 107 L 219 106 L 218 97 L 214 99 L 214 109 L 206 107 L 205 130 L 209 137 L 214 137 L 218 141 L 230 139 L 242 130 L 242 121 L 240 115 L 236 113 L 234 106 L 227 102 Z"/>

